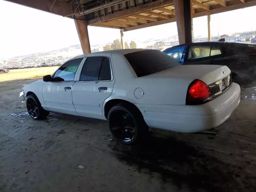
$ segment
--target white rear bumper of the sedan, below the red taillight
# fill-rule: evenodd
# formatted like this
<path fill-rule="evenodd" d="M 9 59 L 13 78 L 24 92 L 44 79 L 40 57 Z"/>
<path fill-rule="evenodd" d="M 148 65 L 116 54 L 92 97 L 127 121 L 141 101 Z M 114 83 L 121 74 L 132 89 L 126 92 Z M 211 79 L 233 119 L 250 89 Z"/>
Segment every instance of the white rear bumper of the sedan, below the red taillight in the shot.
<path fill-rule="evenodd" d="M 230 88 L 213 100 L 196 106 L 138 106 L 148 126 L 176 132 L 200 132 L 225 122 L 240 103 L 240 86 Z"/>

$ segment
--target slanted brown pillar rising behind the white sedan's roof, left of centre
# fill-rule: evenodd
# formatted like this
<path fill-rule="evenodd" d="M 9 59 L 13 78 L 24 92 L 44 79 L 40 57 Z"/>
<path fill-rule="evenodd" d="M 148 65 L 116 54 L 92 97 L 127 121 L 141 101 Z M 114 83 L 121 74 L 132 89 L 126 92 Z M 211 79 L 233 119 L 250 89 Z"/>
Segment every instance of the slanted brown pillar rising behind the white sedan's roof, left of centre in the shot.
<path fill-rule="evenodd" d="M 84 54 L 91 53 L 90 40 L 87 28 L 87 22 L 84 20 L 74 19 L 76 25 L 76 31 L 79 36 L 81 47 Z"/>

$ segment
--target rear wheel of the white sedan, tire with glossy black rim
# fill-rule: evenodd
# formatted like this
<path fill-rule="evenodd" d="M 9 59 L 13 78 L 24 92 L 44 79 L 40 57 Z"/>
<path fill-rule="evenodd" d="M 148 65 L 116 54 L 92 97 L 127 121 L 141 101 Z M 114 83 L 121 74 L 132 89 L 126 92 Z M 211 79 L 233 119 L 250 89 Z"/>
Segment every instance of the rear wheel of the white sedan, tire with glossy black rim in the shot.
<path fill-rule="evenodd" d="M 131 104 L 117 104 L 108 112 L 108 124 L 113 137 L 122 144 L 132 145 L 142 142 L 148 126 L 142 114 Z"/>

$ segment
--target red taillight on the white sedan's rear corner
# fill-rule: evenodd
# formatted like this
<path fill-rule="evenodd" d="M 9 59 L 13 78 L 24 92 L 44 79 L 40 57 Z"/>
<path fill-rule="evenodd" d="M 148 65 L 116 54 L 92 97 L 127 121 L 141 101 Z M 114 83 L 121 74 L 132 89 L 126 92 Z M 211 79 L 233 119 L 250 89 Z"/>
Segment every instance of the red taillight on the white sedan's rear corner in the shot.
<path fill-rule="evenodd" d="M 212 98 L 212 94 L 207 84 L 201 80 L 194 80 L 190 86 L 188 86 L 186 104 L 196 105 L 202 104 Z"/>

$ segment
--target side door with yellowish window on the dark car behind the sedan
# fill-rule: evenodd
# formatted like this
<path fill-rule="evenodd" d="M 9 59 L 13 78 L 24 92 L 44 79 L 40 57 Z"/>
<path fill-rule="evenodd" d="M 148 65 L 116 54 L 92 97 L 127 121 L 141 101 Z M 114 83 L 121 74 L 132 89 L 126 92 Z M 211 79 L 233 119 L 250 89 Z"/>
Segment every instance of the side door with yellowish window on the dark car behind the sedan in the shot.
<path fill-rule="evenodd" d="M 222 65 L 223 53 L 220 46 L 190 45 L 185 56 L 185 65 Z"/>

